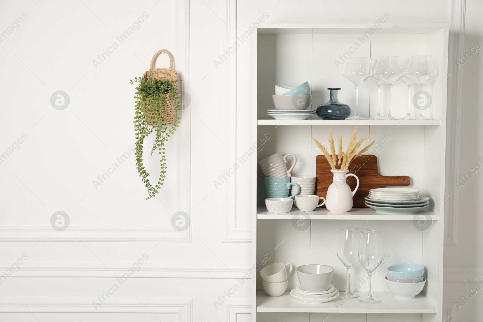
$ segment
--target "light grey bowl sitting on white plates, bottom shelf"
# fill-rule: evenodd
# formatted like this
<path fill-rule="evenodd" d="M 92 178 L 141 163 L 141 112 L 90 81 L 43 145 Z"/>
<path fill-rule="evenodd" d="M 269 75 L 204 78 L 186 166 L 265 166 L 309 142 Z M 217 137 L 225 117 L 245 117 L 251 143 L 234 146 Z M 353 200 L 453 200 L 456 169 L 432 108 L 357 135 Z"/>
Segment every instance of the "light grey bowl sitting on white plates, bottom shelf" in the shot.
<path fill-rule="evenodd" d="M 297 277 L 304 291 L 324 292 L 330 286 L 334 268 L 327 265 L 302 265 L 297 267 Z"/>

